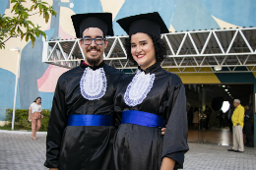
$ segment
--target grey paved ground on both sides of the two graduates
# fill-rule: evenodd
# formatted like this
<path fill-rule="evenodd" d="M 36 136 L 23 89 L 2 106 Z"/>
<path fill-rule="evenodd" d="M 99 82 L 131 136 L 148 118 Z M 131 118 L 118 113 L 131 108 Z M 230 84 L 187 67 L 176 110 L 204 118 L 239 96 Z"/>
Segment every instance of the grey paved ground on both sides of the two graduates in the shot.
<path fill-rule="evenodd" d="M 0 170 L 45 170 L 45 133 L 32 141 L 31 134 L 0 130 Z M 189 142 L 185 170 L 256 170 L 256 148 L 244 153 L 226 151 L 231 146 Z"/>

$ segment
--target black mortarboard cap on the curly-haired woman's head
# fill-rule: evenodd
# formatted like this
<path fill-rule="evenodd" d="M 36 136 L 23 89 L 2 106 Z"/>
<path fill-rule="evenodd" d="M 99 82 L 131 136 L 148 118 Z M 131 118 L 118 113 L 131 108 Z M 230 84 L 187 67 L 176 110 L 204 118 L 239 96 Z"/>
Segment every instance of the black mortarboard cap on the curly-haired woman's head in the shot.
<path fill-rule="evenodd" d="M 130 16 L 116 22 L 129 35 L 143 32 L 160 36 L 160 33 L 169 32 L 158 12 Z"/>

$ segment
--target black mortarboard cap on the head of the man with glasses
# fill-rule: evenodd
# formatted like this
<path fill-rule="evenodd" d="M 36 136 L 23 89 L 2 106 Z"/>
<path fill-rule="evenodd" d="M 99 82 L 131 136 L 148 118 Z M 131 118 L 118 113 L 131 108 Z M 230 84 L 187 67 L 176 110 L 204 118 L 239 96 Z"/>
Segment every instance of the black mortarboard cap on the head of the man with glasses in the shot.
<path fill-rule="evenodd" d="M 71 16 L 77 37 L 81 37 L 86 28 L 100 28 L 104 35 L 114 35 L 111 13 L 87 13 Z"/>

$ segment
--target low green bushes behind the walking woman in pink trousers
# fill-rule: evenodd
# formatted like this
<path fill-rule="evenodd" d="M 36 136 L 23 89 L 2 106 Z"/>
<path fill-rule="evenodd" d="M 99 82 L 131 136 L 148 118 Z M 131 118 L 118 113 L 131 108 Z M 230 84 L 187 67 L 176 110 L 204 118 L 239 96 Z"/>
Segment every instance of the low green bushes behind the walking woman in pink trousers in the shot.
<path fill-rule="evenodd" d="M 39 131 L 47 131 L 49 117 L 50 117 L 50 111 L 43 109 L 42 115 L 43 115 L 43 118 L 41 119 L 41 128 Z M 6 109 L 5 117 L 6 117 L 6 121 L 12 122 L 13 109 Z M 15 124 L 14 124 L 16 129 L 31 130 L 32 123 L 29 122 L 28 118 L 29 118 L 29 110 L 28 109 L 16 109 L 15 110 Z"/>

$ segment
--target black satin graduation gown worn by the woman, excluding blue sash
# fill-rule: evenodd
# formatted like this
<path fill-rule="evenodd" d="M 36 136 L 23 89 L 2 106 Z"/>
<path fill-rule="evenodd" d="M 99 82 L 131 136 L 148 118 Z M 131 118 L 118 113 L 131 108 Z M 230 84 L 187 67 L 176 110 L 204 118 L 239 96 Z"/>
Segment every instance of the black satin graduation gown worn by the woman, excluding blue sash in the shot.
<path fill-rule="evenodd" d="M 189 149 L 184 85 L 177 75 L 160 68 L 160 63 L 145 73 L 155 74 L 155 81 L 143 102 L 132 107 L 124 102 L 127 85 L 134 78 L 130 76 L 117 87 L 114 109 L 119 113 L 139 110 L 163 117 L 165 135 L 161 135 L 160 128 L 121 124 L 114 140 L 111 170 L 160 170 L 163 157 L 174 159 L 175 168 L 183 167 L 184 153 Z"/>

